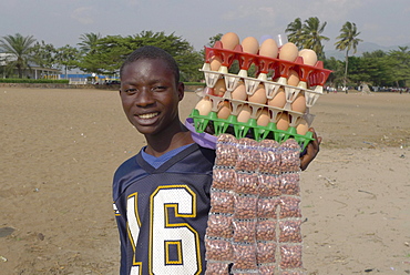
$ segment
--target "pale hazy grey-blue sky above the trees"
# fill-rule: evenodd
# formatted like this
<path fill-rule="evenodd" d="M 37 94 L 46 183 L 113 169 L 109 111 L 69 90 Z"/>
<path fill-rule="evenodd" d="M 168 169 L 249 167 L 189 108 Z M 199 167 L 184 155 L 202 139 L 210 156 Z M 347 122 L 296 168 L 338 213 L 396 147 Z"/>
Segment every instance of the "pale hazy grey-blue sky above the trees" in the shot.
<path fill-rule="evenodd" d="M 195 50 L 217 33 L 285 34 L 296 18 L 327 23 L 325 50 L 335 50 L 340 29 L 356 23 L 363 42 L 410 43 L 410 0 L 1 0 L 0 37 L 21 33 L 54 47 L 75 47 L 81 34 L 174 33 Z"/>

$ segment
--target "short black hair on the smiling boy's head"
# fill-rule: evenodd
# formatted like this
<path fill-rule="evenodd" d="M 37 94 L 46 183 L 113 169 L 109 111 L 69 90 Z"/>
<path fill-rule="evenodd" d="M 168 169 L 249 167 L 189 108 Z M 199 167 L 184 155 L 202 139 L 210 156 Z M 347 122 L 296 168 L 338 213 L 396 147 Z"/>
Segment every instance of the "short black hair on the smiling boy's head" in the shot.
<path fill-rule="evenodd" d="M 140 60 L 140 59 L 161 59 L 165 61 L 168 69 L 174 73 L 175 75 L 175 83 L 180 82 L 180 68 L 176 63 L 175 59 L 167 53 L 165 50 L 154 47 L 154 45 L 144 45 L 135 51 L 133 51 L 124 61 L 124 63 L 120 68 L 120 79 L 122 75 L 122 72 L 124 70 L 124 67 Z"/>

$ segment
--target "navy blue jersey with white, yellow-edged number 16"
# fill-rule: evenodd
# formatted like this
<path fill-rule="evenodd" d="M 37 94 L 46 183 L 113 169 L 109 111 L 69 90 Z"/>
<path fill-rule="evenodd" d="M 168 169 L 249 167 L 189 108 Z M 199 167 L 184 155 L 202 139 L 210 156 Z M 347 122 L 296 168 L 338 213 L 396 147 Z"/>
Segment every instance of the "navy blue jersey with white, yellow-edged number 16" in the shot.
<path fill-rule="evenodd" d="M 215 151 L 193 144 L 158 169 L 141 156 L 115 172 L 121 274 L 203 274 Z"/>

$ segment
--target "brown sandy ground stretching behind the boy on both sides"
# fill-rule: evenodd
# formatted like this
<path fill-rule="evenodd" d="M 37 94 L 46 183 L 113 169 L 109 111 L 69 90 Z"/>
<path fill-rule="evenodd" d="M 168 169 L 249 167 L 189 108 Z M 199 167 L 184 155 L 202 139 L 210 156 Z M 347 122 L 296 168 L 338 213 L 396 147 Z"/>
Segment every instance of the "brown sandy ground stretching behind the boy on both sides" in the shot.
<path fill-rule="evenodd" d="M 145 144 L 117 92 L 1 88 L 0 108 L 0 273 L 117 274 L 112 175 Z M 324 94 L 311 113 L 306 274 L 409 274 L 410 94 Z"/>

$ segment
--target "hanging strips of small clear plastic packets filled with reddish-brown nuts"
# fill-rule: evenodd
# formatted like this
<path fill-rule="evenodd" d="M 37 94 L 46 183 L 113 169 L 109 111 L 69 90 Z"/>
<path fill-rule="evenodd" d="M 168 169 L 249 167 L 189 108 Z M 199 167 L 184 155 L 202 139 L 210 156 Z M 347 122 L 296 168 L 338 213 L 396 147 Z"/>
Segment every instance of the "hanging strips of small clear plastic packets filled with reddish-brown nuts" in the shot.
<path fill-rule="evenodd" d="M 205 274 L 301 275 L 299 144 L 222 134 L 205 234 Z"/>

